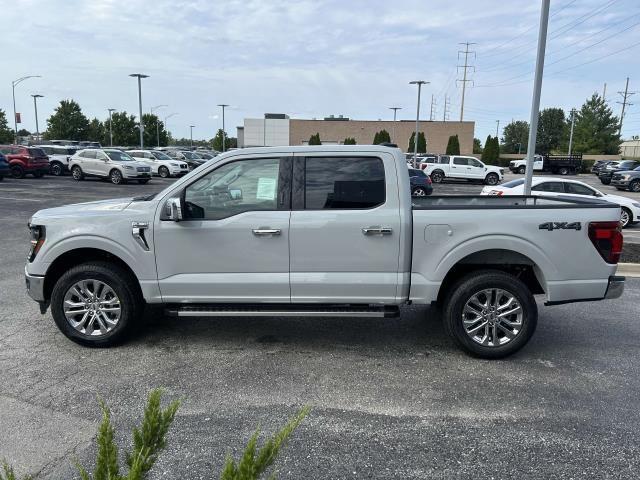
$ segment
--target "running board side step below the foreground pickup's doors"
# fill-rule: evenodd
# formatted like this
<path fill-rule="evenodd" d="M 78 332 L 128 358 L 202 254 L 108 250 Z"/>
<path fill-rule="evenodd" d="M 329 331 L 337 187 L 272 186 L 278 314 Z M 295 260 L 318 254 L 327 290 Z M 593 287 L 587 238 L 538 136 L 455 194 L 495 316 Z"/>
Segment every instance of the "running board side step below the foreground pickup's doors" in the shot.
<path fill-rule="evenodd" d="M 165 309 L 172 317 L 360 317 L 397 318 L 397 306 L 375 305 L 172 305 Z"/>

